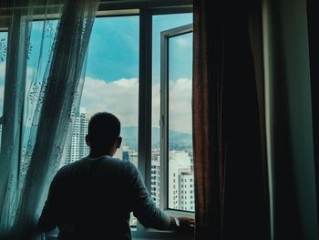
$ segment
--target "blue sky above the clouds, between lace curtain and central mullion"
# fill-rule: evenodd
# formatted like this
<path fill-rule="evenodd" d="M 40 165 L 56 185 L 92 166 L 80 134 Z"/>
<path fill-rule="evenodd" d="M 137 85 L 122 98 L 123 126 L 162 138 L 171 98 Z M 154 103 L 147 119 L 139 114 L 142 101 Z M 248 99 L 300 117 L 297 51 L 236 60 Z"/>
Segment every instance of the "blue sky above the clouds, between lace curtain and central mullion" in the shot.
<path fill-rule="evenodd" d="M 107 81 L 139 77 L 139 16 L 95 20 L 87 76 Z"/>

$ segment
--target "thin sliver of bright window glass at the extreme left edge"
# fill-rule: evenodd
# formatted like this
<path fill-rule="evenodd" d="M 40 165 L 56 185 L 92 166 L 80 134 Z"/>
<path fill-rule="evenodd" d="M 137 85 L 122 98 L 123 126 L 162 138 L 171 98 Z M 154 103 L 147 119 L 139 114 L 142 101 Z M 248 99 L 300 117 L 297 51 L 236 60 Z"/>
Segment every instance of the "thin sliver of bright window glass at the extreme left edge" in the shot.
<path fill-rule="evenodd" d="M 0 32 L 0 117 L 4 111 L 5 98 L 5 64 L 6 64 L 6 46 L 7 46 L 7 32 Z M 0 148 L 2 137 L 2 124 L 0 124 Z"/>

